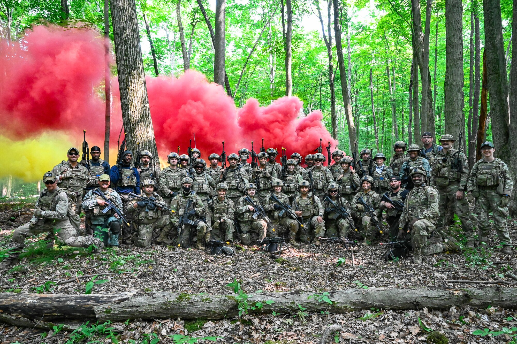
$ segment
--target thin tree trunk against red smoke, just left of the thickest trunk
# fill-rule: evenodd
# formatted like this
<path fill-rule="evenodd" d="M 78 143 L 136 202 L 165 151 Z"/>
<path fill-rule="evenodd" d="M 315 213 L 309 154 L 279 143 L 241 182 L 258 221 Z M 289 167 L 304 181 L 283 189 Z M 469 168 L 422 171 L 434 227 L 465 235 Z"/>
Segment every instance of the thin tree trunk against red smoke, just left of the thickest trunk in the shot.
<path fill-rule="evenodd" d="M 110 1 L 104 0 L 104 160 L 110 161 L 111 71 L 110 71 Z"/>

